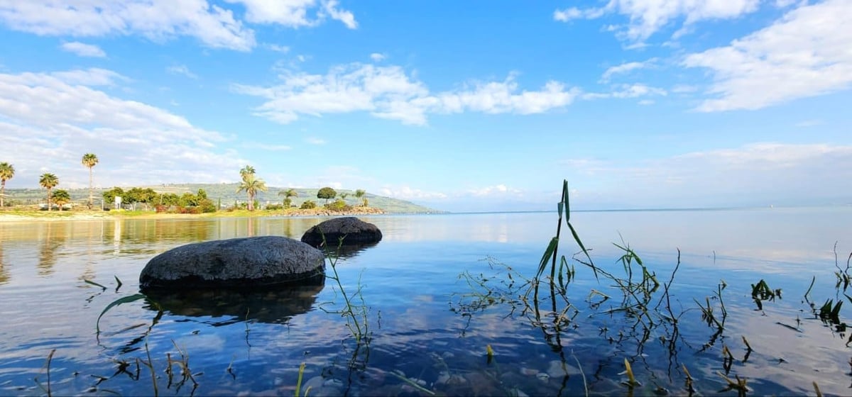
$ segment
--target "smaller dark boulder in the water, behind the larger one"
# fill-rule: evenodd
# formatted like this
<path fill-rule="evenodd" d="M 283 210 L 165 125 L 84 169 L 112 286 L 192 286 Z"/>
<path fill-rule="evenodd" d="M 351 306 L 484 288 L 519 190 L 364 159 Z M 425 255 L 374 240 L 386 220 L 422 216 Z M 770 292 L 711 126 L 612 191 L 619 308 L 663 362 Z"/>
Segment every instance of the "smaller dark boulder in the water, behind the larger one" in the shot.
<path fill-rule="evenodd" d="M 376 244 L 382 241 L 382 230 L 355 217 L 333 218 L 308 229 L 302 235 L 302 242 L 320 247 L 323 236 L 328 247 L 337 247 L 341 238 L 344 246 Z"/>

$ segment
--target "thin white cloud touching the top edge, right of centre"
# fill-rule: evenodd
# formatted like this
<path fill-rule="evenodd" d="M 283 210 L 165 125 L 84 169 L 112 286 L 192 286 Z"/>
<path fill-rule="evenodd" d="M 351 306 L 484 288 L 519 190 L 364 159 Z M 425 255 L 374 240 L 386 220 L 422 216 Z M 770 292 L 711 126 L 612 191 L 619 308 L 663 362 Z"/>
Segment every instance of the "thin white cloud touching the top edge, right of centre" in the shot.
<path fill-rule="evenodd" d="M 555 20 L 567 22 L 576 19 L 596 19 L 604 14 L 617 13 L 629 17 L 624 26 L 610 26 L 620 38 L 631 43 L 642 43 L 653 33 L 673 20 L 683 20 L 683 28 L 701 20 L 737 18 L 757 10 L 760 0 L 609 0 L 607 5 L 592 9 L 556 10 Z M 682 28 L 682 29 L 683 29 Z"/>

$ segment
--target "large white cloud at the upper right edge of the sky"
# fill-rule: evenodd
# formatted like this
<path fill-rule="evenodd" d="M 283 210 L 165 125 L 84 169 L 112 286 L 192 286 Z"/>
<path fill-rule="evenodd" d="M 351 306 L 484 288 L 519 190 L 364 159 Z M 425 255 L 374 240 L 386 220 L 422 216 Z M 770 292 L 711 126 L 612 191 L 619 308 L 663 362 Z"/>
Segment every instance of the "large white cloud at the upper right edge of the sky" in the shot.
<path fill-rule="evenodd" d="M 754 110 L 849 88 L 852 83 L 852 7 L 826 0 L 785 14 L 773 25 L 728 47 L 690 54 L 687 67 L 714 77 L 699 111 Z"/>

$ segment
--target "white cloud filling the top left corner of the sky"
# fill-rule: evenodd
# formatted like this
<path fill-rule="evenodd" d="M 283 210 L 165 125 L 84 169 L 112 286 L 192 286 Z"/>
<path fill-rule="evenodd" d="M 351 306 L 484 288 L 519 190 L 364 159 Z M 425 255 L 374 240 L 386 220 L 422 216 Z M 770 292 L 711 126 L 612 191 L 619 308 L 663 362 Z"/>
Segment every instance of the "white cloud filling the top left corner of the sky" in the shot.
<path fill-rule="evenodd" d="M 53 0 L 0 2 L 0 22 L 17 31 L 43 36 L 102 37 L 138 34 L 154 41 L 197 37 L 211 48 L 247 51 L 254 32 L 230 10 L 205 0 L 87 0 L 71 4 Z"/>

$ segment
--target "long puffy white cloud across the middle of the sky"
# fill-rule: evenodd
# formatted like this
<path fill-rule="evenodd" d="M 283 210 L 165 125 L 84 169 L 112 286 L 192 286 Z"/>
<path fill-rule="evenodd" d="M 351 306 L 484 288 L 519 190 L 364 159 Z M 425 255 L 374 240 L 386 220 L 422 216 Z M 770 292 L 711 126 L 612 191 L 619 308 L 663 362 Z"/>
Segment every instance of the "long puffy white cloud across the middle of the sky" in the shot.
<path fill-rule="evenodd" d="M 520 91 L 514 75 L 503 82 L 472 82 L 457 90 L 430 94 L 400 66 L 357 63 L 333 67 L 325 75 L 285 71 L 280 78 L 280 85 L 269 88 L 235 85 L 233 89 L 267 99 L 255 114 L 281 123 L 296 121 L 300 115 L 367 111 L 379 118 L 423 125 L 427 113 L 527 115 L 564 107 L 579 95 L 579 89 L 553 81 L 539 91 Z"/>

